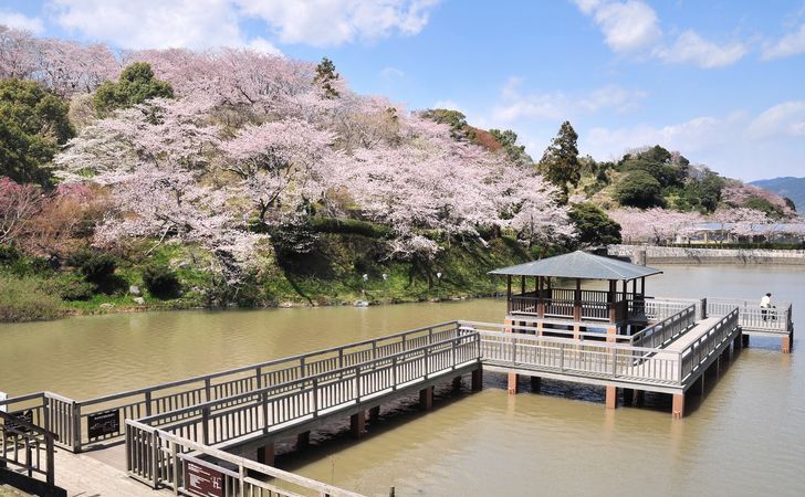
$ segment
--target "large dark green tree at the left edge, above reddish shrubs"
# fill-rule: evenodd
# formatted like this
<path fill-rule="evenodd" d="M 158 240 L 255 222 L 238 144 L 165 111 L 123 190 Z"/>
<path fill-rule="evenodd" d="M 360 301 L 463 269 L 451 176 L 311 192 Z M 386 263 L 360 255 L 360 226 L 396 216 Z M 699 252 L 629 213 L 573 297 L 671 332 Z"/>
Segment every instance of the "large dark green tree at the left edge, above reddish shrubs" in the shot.
<path fill-rule="evenodd" d="M 32 81 L 0 81 L 0 176 L 48 186 L 44 167 L 75 135 L 69 105 Z"/>

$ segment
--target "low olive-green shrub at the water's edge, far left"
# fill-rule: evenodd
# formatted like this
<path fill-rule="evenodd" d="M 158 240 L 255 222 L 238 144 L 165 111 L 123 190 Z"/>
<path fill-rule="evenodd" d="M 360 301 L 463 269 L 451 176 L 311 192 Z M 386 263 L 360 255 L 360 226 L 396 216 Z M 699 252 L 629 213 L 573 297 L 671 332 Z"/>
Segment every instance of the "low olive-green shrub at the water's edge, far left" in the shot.
<path fill-rule="evenodd" d="M 41 279 L 0 276 L 0 322 L 42 321 L 63 314 L 59 297 Z"/>

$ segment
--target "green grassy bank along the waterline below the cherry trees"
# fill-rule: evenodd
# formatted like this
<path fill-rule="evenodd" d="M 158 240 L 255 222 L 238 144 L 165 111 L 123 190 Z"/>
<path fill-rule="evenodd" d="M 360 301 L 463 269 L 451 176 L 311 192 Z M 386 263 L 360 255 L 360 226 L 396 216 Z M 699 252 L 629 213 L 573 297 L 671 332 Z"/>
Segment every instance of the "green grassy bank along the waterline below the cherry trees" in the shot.
<path fill-rule="evenodd" d="M 388 262 L 380 257 L 383 237 L 377 233 L 332 231 L 318 233 L 310 253 L 261 262 L 228 296 L 227 305 L 374 305 L 485 296 L 502 289 L 502 282 L 487 274 L 490 269 L 531 258 L 522 245 L 504 236 L 488 246 L 453 241 L 429 262 Z M 85 255 L 74 266 L 54 268 L 46 261 L 7 251 L 0 262 L 0 321 L 221 305 L 220 287 L 207 271 L 209 254 L 181 245 L 145 253 L 135 247 L 113 260 L 107 254 Z M 98 273 L 109 264 L 111 273 Z M 176 278 L 170 295 L 157 295 L 149 287 L 147 272 L 154 267 Z"/>

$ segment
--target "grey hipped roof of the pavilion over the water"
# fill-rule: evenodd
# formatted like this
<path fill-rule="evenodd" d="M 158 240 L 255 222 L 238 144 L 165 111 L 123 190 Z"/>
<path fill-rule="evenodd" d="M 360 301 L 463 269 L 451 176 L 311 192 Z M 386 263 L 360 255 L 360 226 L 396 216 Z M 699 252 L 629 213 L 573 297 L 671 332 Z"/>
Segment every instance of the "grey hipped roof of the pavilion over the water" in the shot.
<path fill-rule="evenodd" d="M 506 276 L 553 276 L 619 281 L 631 281 L 661 273 L 661 271 L 654 267 L 638 266 L 637 264 L 602 257 L 582 251 L 489 272 L 489 274 Z"/>

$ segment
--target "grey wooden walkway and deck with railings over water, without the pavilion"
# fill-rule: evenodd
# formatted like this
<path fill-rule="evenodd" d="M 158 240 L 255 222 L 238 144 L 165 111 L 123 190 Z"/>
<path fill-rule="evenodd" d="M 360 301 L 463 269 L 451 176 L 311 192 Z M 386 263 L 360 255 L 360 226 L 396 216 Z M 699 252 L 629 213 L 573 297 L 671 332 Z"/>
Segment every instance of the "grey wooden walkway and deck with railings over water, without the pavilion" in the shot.
<path fill-rule="evenodd" d="M 306 437 L 335 417 L 349 416 L 359 434 L 367 411 L 399 396 L 418 392 L 430 405 L 435 384 L 470 372 L 480 388 L 481 368 L 509 373 L 510 380 L 525 374 L 606 387 L 607 406 L 610 389 L 670 393 L 675 416 L 681 416 L 678 398 L 683 402 L 684 392 L 740 341 L 742 319 L 756 320 L 751 310 L 742 316 L 740 307 L 691 303 L 647 306 L 655 322 L 632 336 L 578 330 L 545 336 L 540 326 L 451 321 L 90 401 L 40 392 L 6 404 L 28 405 L 34 424 L 66 437 L 56 452 L 56 485 L 71 495 L 151 495 L 148 487 L 187 494 L 191 464 L 221 475 L 228 497 L 354 497 L 273 467 L 273 444 Z M 697 320 L 703 309 L 712 309 L 712 317 Z M 118 410 L 125 430 L 87 433 L 91 415 Z M 70 454 L 82 448 L 96 451 Z M 262 461 L 236 455 L 254 451 Z"/>

